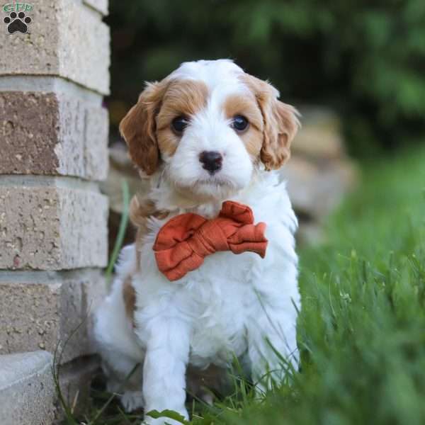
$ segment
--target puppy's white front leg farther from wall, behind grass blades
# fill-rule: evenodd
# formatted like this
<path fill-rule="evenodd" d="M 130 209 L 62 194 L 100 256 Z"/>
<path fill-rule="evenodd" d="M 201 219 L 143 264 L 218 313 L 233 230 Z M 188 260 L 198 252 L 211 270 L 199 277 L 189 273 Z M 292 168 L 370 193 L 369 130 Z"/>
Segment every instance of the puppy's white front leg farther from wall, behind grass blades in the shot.
<path fill-rule="evenodd" d="M 271 388 L 298 368 L 297 312 L 262 306 L 248 326 L 248 355 L 251 374 L 259 391 Z"/>

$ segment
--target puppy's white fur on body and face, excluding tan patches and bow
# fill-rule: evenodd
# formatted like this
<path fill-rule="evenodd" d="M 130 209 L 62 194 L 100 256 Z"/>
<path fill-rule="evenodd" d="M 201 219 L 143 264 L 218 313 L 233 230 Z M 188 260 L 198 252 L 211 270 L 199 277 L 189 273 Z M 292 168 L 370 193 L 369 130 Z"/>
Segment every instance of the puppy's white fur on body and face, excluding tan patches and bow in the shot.
<path fill-rule="evenodd" d="M 194 62 L 174 75 L 203 79 L 212 93 L 216 87 L 216 99 L 227 96 L 229 91 L 246 89 L 239 83 L 231 84 L 236 65 L 229 61 L 214 62 L 215 72 Z M 211 64 L 208 66 L 214 68 Z M 220 80 L 220 73 L 226 78 Z M 243 146 L 235 140 L 234 132 L 229 131 L 228 123 L 215 111 L 219 105 L 218 100 L 210 101 L 210 109 L 198 117 L 199 126 L 194 123 L 174 157 L 164 159 L 162 169 L 152 176 L 150 197 L 158 208 L 171 211 L 166 220 L 187 211 L 215 217 L 225 199 L 249 205 L 255 221 L 267 224 L 266 257 L 261 259 L 250 252 L 240 255 L 217 252 L 205 258 L 198 270 L 170 282 L 158 271 L 152 251 L 157 232 L 166 220 L 149 220 L 140 264 L 136 264 L 135 245 L 126 246 L 111 294 L 96 314 L 96 340 L 111 390 L 117 390 L 135 364 L 142 363 L 142 368 L 131 378 L 132 388 L 122 397 L 126 409 L 141 406 L 145 412 L 174 409 L 187 418 L 188 365 L 200 369 L 210 364 L 227 368 L 232 356 L 244 358 L 259 387 L 268 385 L 268 379 L 264 378 L 268 371 L 268 378 L 277 380 L 285 373 L 274 350 L 297 368 L 296 320 L 300 294 L 293 237 L 297 219 L 278 171 L 267 172 L 252 166 L 249 155 L 242 152 Z M 210 130 L 205 130 L 205 125 Z M 191 154 L 196 149 L 196 140 L 202 145 L 198 149 L 219 144 L 220 149 L 227 152 L 225 162 L 227 159 L 229 162 L 224 166 L 223 175 L 234 185 L 232 191 L 222 193 L 220 184 L 215 191 L 215 185 L 205 183 L 199 191 L 203 196 L 207 192 L 212 196 L 198 205 L 193 203 L 181 208 L 173 205 L 174 182 L 179 179 L 196 182 L 202 177 L 200 173 L 205 172 Z M 122 294 L 123 280 L 128 275 L 132 275 L 137 294 L 134 329 L 125 315 Z M 157 425 L 166 421 L 175 423 L 171 419 L 149 416 L 145 421 Z"/>

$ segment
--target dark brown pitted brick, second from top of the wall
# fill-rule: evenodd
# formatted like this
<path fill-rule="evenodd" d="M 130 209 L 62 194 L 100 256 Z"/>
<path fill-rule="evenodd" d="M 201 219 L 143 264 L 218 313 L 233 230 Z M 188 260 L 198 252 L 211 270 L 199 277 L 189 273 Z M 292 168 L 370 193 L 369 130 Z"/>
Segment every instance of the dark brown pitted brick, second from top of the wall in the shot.
<path fill-rule="evenodd" d="M 108 113 L 77 96 L 0 92 L 0 140 L 0 174 L 106 179 Z"/>

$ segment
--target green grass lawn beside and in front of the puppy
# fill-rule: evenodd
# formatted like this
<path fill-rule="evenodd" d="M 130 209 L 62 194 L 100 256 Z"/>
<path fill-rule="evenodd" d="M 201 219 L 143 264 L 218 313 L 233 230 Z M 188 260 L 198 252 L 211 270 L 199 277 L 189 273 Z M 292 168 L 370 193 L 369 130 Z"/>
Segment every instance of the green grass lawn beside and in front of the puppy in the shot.
<path fill-rule="evenodd" d="M 235 378 L 232 397 L 196 404 L 193 424 L 425 424 L 425 150 L 364 168 L 327 242 L 300 251 L 292 385 L 254 400 Z M 98 424 L 137 421 L 115 404 Z"/>

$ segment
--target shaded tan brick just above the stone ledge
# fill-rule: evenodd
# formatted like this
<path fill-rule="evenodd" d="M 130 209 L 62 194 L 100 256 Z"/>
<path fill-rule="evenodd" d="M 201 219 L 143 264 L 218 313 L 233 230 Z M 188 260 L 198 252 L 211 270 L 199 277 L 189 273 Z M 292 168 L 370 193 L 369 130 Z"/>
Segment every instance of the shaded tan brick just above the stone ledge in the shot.
<path fill-rule="evenodd" d="M 58 348 L 67 362 L 93 353 L 91 313 L 105 288 L 94 270 L 0 273 L 0 355 Z"/>

